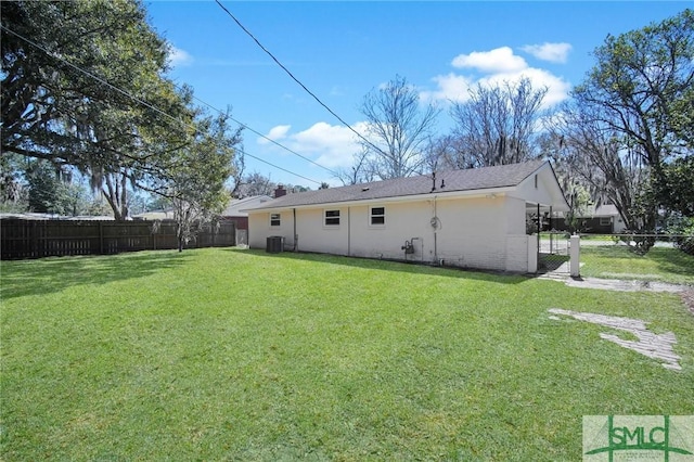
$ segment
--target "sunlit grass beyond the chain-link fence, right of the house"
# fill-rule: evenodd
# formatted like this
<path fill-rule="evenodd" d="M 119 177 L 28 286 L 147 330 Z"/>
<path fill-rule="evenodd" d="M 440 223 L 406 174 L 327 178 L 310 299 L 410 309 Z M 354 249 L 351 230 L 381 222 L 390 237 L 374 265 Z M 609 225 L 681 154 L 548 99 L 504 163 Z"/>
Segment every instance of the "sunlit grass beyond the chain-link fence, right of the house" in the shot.
<path fill-rule="evenodd" d="M 622 244 L 581 245 L 580 261 L 584 277 L 694 285 L 694 256 L 674 247 L 655 246 L 639 255 Z"/>

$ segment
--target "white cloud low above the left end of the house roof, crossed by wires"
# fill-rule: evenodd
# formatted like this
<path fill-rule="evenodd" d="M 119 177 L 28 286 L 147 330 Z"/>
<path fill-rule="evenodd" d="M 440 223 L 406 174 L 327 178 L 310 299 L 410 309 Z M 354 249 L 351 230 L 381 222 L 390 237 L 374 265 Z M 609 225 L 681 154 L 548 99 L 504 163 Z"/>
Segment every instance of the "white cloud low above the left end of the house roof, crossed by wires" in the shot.
<path fill-rule="evenodd" d="M 367 124 L 358 123 L 352 126 L 360 133 L 365 133 Z M 270 130 L 271 133 L 282 133 L 282 145 L 303 156 L 312 159 L 327 168 L 349 167 L 352 165 L 352 155 L 359 151 L 357 136 L 343 125 L 330 125 L 324 121 L 313 124 L 306 130 L 297 133 L 288 133 L 290 126 L 280 125 Z M 267 140 L 259 138 L 258 143 L 268 144 Z M 292 155 L 290 152 L 275 146 L 273 151 Z"/>

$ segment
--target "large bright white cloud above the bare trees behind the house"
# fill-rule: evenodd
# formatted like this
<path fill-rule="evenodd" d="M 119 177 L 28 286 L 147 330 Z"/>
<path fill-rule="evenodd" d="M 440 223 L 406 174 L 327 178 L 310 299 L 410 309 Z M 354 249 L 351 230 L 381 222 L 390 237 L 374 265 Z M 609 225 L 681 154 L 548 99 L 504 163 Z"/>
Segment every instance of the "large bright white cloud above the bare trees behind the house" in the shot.
<path fill-rule="evenodd" d="M 434 77 L 437 89 L 420 93 L 422 100 L 464 102 L 470 99 L 468 90 L 477 85 L 497 86 L 505 82 L 513 85 L 524 77 L 530 79 L 535 89 L 548 87 L 548 94 L 543 101 L 544 107 L 551 107 L 566 100 L 570 90 L 570 85 L 562 77 L 547 69 L 530 67 L 523 57 L 514 55 L 509 47 L 460 54 L 451 64 L 459 68 L 470 68 L 471 74 L 449 73 Z"/>

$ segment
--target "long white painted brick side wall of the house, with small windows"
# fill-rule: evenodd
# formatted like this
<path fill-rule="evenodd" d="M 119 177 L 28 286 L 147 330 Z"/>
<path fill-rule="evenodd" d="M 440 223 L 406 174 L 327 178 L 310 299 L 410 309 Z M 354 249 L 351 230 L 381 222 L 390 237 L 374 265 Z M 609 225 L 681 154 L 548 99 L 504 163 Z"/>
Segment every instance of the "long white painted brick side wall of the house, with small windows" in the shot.
<path fill-rule="evenodd" d="M 371 207 L 385 207 L 385 224 L 371 224 Z M 339 226 L 324 224 L 323 207 L 296 210 L 297 251 L 514 272 L 529 268 L 525 202 L 518 198 L 428 198 L 329 209 L 339 210 Z M 293 217 L 291 209 L 283 210 L 281 226 L 270 227 L 269 213 L 250 211 L 249 246 L 265 248 L 268 236 L 282 235 L 285 248 L 294 248 Z M 413 254 L 402 248 L 406 241 Z"/>

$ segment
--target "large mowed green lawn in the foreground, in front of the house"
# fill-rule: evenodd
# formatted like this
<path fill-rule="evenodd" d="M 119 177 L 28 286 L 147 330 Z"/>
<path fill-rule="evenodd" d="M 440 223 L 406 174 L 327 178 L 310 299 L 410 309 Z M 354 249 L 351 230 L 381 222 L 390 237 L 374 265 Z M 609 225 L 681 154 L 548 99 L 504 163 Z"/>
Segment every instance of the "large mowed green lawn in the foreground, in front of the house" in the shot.
<path fill-rule="evenodd" d="M 677 295 L 239 249 L 1 269 L 7 461 L 580 460 L 583 415 L 694 414 Z M 671 331 L 683 370 L 549 308 Z"/>

